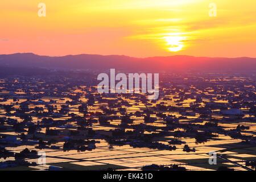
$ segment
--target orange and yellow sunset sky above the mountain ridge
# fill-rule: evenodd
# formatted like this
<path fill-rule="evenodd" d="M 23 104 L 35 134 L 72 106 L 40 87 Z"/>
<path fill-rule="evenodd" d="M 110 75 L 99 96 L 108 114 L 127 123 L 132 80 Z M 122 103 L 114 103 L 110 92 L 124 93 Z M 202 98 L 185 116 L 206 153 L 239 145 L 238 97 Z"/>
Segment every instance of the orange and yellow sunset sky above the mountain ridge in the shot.
<path fill-rule="evenodd" d="M 256 57 L 255 0 L 1 0 L 0 23 L 0 54 Z"/>

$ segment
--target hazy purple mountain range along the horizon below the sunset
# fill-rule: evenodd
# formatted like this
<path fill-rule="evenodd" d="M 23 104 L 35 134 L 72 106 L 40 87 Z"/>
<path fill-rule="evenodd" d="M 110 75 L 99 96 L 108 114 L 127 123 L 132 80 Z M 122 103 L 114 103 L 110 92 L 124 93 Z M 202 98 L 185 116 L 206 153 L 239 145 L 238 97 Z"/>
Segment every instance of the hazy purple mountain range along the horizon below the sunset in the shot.
<path fill-rule="evenodd" d="M 137 58 L 119 55 L 39 56 L 34 53 L 0 55 L 0 67 L 47 69 L 120 69 L 136 71 L 255 71 L 256 58 L 167 56 Z"/>

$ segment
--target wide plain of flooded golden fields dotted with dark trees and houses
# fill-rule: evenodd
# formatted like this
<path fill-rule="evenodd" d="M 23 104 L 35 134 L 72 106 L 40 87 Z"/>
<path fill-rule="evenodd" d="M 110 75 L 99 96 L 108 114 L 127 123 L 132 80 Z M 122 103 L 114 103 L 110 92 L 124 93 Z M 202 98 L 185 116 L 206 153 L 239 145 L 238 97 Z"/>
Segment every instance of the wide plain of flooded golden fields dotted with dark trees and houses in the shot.
<path fill-rule="evenodd" d="M 158 100 L 97 75 L 1 75 L 0 170 L 255 170 L 255 73 L 163 72 Z"/>

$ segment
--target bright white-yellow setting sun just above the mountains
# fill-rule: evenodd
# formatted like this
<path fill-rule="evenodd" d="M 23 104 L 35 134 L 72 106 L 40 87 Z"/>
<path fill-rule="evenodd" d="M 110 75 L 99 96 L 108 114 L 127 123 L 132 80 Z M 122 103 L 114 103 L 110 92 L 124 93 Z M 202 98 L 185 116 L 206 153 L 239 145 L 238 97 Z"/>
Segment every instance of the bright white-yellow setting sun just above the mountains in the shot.
<path fill-rule="evenodd" d="M 166 36 L 164 39 L 167 42 L 168 50 L 171 52 L 181 51 L 184 47 L 183 36 Z"/>

